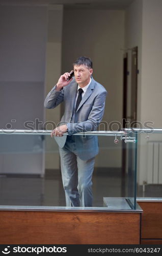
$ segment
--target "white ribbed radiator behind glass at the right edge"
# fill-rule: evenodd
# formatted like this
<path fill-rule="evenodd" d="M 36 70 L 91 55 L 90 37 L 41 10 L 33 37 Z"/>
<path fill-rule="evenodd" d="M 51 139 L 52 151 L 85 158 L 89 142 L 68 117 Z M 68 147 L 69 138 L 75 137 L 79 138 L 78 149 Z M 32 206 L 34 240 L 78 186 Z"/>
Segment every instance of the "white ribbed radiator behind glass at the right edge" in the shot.
<path fill-rule="evenodd" d="M 147 184 L 162 184 L 162 141 L 147 142 Z"/>

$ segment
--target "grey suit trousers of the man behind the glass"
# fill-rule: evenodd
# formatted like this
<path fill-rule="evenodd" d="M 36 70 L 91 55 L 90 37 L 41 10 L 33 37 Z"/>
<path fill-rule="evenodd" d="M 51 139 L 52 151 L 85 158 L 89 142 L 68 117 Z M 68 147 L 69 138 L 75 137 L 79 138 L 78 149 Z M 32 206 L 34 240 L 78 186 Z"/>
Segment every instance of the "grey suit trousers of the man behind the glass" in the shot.
<path fill-rule="evenodd" d="M 76 152 L 75 137 L 67 136 L 64 147 L 59 147 L 66 206 L 91 207 L 95 157 L 88 160 L 80 159 Z"/>

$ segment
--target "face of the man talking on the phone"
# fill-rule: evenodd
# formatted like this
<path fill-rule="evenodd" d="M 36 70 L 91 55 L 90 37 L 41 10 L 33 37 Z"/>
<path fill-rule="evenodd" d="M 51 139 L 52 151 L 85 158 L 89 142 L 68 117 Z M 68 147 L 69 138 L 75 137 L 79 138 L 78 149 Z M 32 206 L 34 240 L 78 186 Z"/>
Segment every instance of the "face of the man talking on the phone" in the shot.
<path fill-rule="evenodd" d="M 93 69 L 90 69 L 85 65 L 74 66 L 75 80 L 82 87 L 89 83 L 92 73 Z"/>

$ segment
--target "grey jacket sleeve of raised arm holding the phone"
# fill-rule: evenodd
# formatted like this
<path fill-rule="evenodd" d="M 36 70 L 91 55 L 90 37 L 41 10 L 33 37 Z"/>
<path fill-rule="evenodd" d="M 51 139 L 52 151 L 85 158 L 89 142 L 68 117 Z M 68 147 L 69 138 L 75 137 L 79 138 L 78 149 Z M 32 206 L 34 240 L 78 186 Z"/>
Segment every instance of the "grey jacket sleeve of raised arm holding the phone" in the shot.
<path fill-rule="evenodd" d="M 62 101 L 64 101 L 64 88 L 61 91 L 57 91 L 55 86 L 45 98 L 44 106 L 47 109 L 55 109 Z"/>

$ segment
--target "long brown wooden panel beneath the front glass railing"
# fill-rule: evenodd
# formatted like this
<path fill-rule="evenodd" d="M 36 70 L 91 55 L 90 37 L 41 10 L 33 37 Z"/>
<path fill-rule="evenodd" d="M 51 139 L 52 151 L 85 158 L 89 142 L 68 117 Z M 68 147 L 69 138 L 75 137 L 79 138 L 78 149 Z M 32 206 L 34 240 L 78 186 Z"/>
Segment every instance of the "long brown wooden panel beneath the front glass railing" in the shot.
<path fill-rule="evenodd" d="M 139 244 L 140 214 L 0 211 L 1 244 Z"/>

